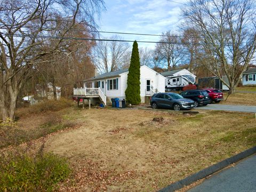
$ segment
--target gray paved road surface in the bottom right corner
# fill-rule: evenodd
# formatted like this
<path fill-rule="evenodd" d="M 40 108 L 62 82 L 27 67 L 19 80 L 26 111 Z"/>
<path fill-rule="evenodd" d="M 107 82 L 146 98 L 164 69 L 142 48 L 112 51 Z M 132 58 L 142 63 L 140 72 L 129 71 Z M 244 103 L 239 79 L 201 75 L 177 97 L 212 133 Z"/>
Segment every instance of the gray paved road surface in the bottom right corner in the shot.
<path fill-rule="evenodd" d="M 223 170 L 204 180 L 189 192 L 256 192 L 256 155 L 252 155 L 236 166 Z"/>

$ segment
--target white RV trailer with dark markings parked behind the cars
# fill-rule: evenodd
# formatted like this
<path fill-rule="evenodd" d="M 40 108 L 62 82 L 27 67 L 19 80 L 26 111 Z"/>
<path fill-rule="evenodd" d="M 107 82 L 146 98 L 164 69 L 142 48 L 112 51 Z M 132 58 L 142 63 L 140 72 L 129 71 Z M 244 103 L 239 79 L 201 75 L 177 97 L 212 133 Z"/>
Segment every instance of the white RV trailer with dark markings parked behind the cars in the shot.
<path fill-rule="evenodd" d="M 165 91 L 179 91 L 189 83 L 196 83 L 196 76 L 190 73 L 187 69 L 165 71 L 161 73 L 165 80 Z"/>

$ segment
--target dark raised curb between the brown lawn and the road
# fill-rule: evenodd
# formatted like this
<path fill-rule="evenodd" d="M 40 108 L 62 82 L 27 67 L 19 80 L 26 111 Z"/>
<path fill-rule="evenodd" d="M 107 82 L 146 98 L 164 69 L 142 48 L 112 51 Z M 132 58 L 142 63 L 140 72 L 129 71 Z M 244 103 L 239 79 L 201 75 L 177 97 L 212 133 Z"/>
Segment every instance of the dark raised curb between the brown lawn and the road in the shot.
<path fill-rule="evenodd" d="M 171 185 L 159 190 L 159 192 L 167 192 L 167 191 L 171 192 L 171 191 L 181 189 L 185 186 L 190 185 L 191 183 L 193 183 L 197 180 L 203 179 L 217 171 L 220 171 L 221 169 L 227 167 L 228 165 L 230 165 L 232 163 L 236 163 L 236 162 L 238 162 L 246 157 L 249 157 L 250 155 L 253 155 L 255 153 L 256 153 L 256 146 L 254 146 L 250 149 L 244 150 L 239 154 L 236 154 L 236 155 L 229 157 L 219 163 L 211 165 L 201 171 L 198 171 L 197 173 L 190 175 L 185 179 L 174 182 Z"/>

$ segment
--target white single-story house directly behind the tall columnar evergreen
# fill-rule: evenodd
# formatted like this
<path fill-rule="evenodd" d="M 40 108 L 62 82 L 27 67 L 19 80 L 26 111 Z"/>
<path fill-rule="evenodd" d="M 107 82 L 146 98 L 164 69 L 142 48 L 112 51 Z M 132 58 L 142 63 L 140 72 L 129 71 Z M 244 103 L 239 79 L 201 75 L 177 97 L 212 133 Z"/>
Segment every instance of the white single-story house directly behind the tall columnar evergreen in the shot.
<path fill-rule="evenodd" d="M 127 88 L 128 69 L 101 74 L 84 81 L 84 87 L 98 88 L 107 98 L 125 99 Z M 145 97 L 156 92 L 165 92 L 165 77 L 155 70 L 143 65 L 140 67 L 140 97 L 145 102 Z"/>

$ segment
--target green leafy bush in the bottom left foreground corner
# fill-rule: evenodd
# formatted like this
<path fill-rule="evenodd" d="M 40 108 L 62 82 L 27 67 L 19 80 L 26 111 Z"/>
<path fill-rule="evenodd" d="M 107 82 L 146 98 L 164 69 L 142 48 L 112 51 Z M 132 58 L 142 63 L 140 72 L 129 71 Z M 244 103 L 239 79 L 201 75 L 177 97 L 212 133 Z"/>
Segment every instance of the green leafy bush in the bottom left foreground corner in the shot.
<path fill-rule="evenodd" d="M 57 155 L 0 155 L 0 191 L 52 191 L 69 173 L 66 159 Z"/>

